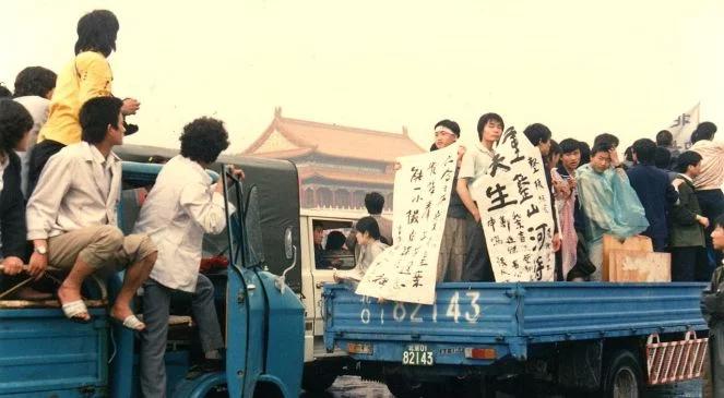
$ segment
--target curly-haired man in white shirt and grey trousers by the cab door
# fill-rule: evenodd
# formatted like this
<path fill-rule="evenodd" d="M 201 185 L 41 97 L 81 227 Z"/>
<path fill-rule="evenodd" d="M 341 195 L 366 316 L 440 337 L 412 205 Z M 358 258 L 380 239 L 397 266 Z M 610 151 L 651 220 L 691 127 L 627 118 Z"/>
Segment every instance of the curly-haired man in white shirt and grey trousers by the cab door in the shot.
<path fill-rule="evenodd" d="M 165 397 L 164 353 L 171 293 L 192 296 L 193 318 L 206 361 L 202 371 L 221 369 L 224 339 L 214 306 L 214 286 L 199 274 L 204 233 L 218 234 L 226 228 L 222 182 L 212 184 L 205 168 L 229 145 L 221 121 L 200 118 L 183 128 L 181 154 L 170 159 L 156 178 L 134 232 L 147 233 L 158 246 L 158 261 L 144 285 L 141 335 L 141 393 Z M 241 170 L 235 174 L 242 176 Z M 228 204 L 229 213 L 234 206 Z"/>

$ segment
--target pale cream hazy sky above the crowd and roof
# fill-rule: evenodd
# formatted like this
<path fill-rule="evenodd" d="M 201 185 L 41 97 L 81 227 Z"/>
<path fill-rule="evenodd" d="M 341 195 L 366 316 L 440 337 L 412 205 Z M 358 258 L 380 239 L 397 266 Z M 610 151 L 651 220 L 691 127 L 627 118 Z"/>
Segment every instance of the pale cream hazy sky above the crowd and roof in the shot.
<path fill-rule="evenodd" d="M 0 82 L 27 65 L 59 71 L 78 19 L 120 20 L 116 95 L 142 102 L 129 142 L 177 146 L 199 116 L 227 122 L 232 150 L 274 107 L 293 118 L 400 132 L 499 112 L 522 130 L 630 143 L 701 101 L 724 123 L 724 1 L 8 1 Z M 719 134 L 724 135 L 724 134 Z"/>

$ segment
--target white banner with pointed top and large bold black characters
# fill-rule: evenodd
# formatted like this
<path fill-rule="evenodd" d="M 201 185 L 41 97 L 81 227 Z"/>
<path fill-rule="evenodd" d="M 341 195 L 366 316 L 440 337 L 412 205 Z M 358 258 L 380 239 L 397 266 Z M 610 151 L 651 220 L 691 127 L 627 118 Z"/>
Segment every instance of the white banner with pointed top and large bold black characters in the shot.
<path fill-rule="evenodd" d="M 554 219 L 541 152 L 509 128 L 473 184 L 496 281 L 551 281 Z"/>

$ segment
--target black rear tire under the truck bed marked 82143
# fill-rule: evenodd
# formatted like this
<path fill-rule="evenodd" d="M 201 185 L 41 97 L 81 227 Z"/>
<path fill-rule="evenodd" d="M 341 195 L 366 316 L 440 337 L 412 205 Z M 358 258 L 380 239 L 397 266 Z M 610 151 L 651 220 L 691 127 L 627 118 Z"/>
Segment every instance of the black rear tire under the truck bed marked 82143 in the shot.
<path fill-rule="evenodd" d="M 617 350 L 604 364 L 602 398 L 643 397 L 643 370 L 636 354 L 630 350 Z"/>

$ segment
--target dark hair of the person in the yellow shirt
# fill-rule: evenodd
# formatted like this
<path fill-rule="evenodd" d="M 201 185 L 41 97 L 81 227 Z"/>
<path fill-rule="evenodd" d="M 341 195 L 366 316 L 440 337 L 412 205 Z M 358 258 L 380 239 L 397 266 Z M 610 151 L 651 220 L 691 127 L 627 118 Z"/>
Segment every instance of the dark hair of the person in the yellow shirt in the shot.
<path fill-rule="evenodd" d="M 110 56 L 116 50 L 119 27 L 118 19 L 108 10 L 94 10 L 81 16 L 78 21 L 75 55 L 98 51 L 104 57 Z"/>

